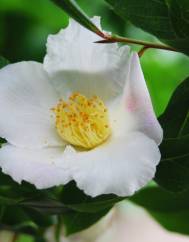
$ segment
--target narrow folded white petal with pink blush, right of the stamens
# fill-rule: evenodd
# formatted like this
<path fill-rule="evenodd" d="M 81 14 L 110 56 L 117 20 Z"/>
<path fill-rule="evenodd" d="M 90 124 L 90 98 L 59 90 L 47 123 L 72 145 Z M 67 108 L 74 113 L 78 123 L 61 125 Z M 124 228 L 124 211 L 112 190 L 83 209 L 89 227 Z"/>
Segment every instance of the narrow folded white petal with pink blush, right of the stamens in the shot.
<path fill-rule="evenodd" d="M 143 132 L 157 144 L 163 138 L 163 131 L 154 113 L 150 95 L 141 70 L 139 57 L 135 53 L 131 57 L 130 71 L 127 77 L 124 103 L 126 111 L 134 120 L 134 130 Z"/>

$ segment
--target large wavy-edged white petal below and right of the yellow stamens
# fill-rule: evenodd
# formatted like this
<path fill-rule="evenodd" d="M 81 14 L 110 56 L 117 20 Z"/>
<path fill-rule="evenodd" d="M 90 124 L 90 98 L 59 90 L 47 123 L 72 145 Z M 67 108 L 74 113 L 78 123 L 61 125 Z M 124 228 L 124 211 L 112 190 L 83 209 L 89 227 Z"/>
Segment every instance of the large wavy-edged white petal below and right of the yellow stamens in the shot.
<path fill-rule="evenodd" d="M 159 160 L 156 143 L 142 133 L 132 133 L 74 154 L 64 164 L 77 186 L 88 195 L 130 196 L 154 177 Z"/>

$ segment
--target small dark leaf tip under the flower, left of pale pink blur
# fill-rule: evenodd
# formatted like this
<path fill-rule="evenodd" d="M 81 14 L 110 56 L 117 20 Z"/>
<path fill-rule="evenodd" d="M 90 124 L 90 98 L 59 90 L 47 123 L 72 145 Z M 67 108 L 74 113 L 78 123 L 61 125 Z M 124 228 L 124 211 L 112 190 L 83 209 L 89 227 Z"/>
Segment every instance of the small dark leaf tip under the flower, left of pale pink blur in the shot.
<path fill-rule="evenodd" d="M 70 211 L 63 214 L 66 235 L 87 229 L 108 213 L 109 209 L 97 213 L 79 213 Z"/>

